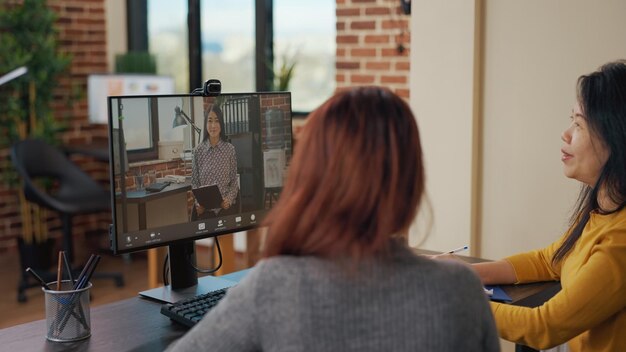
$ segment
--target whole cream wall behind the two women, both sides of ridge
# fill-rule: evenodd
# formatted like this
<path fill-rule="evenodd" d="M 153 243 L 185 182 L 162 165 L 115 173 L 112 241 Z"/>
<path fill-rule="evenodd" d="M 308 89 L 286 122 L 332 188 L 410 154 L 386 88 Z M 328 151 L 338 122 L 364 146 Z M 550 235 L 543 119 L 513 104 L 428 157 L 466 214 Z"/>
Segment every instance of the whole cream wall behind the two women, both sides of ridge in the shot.
<path fill-rule="evenodd" d="M 472 77 L 475 3 L 485 10 L 481 77 Z M 626 2 L 475 0 L 413 2 L 411 105 L 426 154 L 435 228 L 422 247 L 447 249 L 469 238 L 470 130 L 482 120 L 482 243 L 500 258 L 547 245 L 565 229 L 579 185 L 561 170 L 560 134 L 579 75 L 626 58 Z M 474 117 L 473 80 L 482 89 Z M 468 169 L 469 168 L 469 169 Z M 475 171 L 475 170 L 474 170 Z M 475 219 L 476 220 L 476 219 Z M 418 237 L 412 234 L 411 243 Z"/>

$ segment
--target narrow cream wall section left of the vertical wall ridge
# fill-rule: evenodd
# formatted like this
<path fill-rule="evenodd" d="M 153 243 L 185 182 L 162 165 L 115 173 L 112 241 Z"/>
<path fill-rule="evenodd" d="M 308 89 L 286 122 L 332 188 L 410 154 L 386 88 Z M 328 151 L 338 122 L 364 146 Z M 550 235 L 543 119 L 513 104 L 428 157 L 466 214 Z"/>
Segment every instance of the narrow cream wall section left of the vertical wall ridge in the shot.
<path fill-rule="evenodd" d="M 422 139 L 433 226 L 409 243 L 446 250 L 469 243 L 472 172 L 474 3 L 413 1 L 411 108 Z M 454 25 L 444 25 L 445 23 Z"/>

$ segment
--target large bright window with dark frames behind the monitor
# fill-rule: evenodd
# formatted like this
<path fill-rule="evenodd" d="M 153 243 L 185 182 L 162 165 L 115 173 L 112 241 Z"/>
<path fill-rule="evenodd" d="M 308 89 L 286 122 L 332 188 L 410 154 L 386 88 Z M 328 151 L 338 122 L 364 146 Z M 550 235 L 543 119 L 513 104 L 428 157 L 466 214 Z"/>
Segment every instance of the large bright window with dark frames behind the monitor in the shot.
<path fill-rule="evenodd" d="M 210 78 L 219 79 L 224 92 L 267 90 L 269 73 L 262 69 L 277 72 L 283 62 L 296 63 L 288 87 L 294 112 L 311 111 L 335 90 L 335 0 L 143 1 L 147 14 L 138 7 L 129 19 L 147 15 L 135 23 L 147 22 L 138 31 L 147 30 L 157 73 L 174 78 L 175 92 L 188 93 Z M 267 58 L 257 57 L 263 54 Z M 152 141 L 163 138 L 151 131 Z"/>

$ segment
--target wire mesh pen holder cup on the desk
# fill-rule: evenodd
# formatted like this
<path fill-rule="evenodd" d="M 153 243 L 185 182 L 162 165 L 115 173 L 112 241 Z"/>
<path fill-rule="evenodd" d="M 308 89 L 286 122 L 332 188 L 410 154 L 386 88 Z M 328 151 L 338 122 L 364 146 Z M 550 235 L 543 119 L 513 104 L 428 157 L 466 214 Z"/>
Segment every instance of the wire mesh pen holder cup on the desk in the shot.
<path fill-rule="evenodd" d="M 48 284 L 56 288 L 56 281 Z M 43 289 L 46 298 L 46 338 L 55 342 L 73 342 L 91 336 L 89 289 L 73 290 L 69 280 L 61 282 L 61 291 Z"/>

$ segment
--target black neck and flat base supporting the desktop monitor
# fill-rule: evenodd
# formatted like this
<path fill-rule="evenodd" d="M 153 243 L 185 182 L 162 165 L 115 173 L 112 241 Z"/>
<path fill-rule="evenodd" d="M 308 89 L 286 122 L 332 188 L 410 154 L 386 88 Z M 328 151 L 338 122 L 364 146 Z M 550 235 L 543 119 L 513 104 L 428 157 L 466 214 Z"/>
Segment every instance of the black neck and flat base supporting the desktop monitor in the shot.
<path fill-rule="evenodd" d="M 190 263 L 196 261 L 194 241 L 171 244 L 168 255 L 172 284 L 139 292 L 140 296 L 163 303 L 174 303 L 237 284 L 237 281 L 215 276 L 198 279 L 198 274 Z"/>

